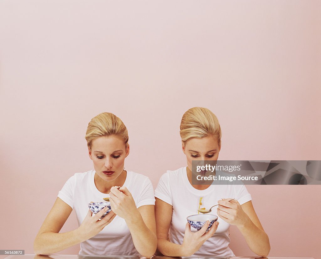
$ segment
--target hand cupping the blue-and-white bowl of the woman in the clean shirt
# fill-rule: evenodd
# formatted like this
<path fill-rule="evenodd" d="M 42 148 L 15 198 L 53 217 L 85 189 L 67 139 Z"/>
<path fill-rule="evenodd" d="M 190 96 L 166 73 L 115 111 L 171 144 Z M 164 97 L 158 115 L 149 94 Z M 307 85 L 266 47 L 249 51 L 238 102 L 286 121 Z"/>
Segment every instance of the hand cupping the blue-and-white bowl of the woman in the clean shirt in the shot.
<path fill-rule="evenodd" d="M 96 236 L 104 227 L 106 227 L 115 217 L 116 214 L 113 211 L 110 211 L 105 217 L 101 220 L 100 217 L 108 211 L 109 208 L 102 209 L 99 213 L 94 215 L 93 217 L 91 210 L 88 211 L 86 217 L 82 221 L 81 225 L 77 229 L 80 236 L 82 236 L 83 240 L 88 240 Z"/>

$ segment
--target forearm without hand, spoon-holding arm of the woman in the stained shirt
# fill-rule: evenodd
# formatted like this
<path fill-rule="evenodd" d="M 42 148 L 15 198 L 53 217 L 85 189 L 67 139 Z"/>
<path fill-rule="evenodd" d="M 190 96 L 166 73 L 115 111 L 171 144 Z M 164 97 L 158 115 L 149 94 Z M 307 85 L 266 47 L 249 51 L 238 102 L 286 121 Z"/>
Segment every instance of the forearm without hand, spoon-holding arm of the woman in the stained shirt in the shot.
<path fill-rule="evenodd" d="M 248 247 L 257 255 L 266 257 L 270 252 L 270 241 L 264 230 L 259 229 L 249 218 L 238 226 Z"/>

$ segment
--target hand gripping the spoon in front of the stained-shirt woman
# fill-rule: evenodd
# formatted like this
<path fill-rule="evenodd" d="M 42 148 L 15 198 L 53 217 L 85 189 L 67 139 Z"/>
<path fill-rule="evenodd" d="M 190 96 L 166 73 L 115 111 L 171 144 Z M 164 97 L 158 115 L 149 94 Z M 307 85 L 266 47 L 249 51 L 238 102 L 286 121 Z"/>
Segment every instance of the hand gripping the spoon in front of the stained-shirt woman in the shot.
<path fill-rule="evenodd" d="M 227 223 L 235 226 L 242 226 L 246 224 L 249 217 L 243 211 L 241 205 L 237 200 L 222 199 L 217 201 L 219 206 L 217 208 L 217 215 Z"/>

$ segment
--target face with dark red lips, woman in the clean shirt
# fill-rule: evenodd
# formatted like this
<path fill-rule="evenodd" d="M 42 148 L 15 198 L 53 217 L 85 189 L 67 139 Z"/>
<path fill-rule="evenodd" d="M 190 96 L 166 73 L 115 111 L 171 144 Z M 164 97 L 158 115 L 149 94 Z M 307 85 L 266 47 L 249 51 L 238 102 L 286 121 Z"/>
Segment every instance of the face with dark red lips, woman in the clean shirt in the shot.
<path fill-rule="evenodd" d="M 115 180 L 124 170 L 125 158 L 129 154 L 129 145 L 118 136 L 95 138 L 89 148 L 89 157 L 94 163 L 98 176 L 105 181 Z"/>

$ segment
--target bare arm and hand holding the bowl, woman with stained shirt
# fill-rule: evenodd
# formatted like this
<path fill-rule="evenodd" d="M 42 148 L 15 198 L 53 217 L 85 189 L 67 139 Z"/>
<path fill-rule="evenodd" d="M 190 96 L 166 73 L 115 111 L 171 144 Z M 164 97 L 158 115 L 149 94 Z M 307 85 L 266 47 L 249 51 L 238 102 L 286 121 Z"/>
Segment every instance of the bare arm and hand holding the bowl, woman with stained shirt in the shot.
<path fill-rule="evenodd" d="M 215 222 L 210 230 L 205 233 L 209 222 L 205 223 L 201 230 L 191 232 L 190 225 L 187 223 L 182 245 L 174 244 L 169 241 L 168 231 L 172 220 L 173 206 L 156 198 L 155 218 L 157 230 L 157 252 L 165 256 L 190 256 L 193 255 L 204 242 L 213 236 L 218 227 Z"/>

